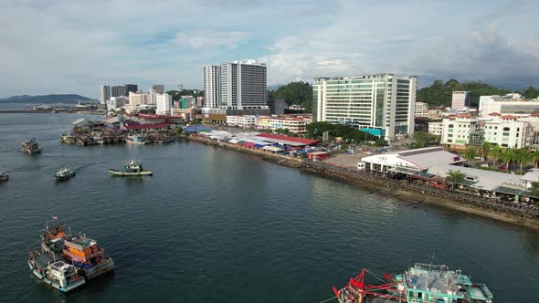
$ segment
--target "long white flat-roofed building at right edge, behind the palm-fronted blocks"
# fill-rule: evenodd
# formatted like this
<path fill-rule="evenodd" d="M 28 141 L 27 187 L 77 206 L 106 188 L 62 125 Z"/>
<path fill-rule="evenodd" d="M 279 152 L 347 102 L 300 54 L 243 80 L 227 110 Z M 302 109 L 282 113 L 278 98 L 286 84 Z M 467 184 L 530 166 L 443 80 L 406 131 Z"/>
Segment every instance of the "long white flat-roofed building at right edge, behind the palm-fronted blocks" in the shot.
<path fill-rule="evenodd" d="M 539 99 L 524 99 L 516 93 L 505 96 L 481 96 L 479 111 L 481 117 L 488 117 L 491 113 L 517 117 L 527 116 L 539 112 Z"/>

